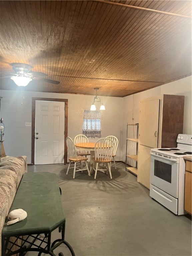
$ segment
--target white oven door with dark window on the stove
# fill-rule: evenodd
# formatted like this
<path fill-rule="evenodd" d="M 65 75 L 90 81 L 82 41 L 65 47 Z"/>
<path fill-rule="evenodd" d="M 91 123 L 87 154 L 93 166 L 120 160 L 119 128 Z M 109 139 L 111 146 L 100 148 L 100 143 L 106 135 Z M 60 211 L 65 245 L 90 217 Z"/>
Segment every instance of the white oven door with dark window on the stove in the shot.
<path fill-rule="evenodd" d="M 150 183 L 178 198 L 179 158 L 168 158 L 151 152 Z"/>

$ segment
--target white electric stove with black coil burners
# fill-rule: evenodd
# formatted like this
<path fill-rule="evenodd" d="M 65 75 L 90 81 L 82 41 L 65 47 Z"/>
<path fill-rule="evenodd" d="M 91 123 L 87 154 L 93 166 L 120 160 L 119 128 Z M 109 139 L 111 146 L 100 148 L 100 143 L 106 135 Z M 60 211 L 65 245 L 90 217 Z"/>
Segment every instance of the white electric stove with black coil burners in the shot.
<path fill-rule="evenodd" d="M 178 134 L 177 148 L 152 148 L 150 197 L 176 215 L 183 215 L 185 161 L 192 154 L 192 135 Z"/>

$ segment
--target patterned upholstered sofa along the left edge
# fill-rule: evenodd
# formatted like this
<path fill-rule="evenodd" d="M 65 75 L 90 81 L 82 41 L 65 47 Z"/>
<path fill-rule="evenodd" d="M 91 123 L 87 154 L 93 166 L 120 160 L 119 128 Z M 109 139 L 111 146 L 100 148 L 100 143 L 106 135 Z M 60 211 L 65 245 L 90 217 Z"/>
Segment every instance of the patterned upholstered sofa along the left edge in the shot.
<path fill-rule="evenodd" d="M 9 156 L 0 162 L 0 255 L 2 228 L 25 172 L 27 172 L 26 156 Z"/>

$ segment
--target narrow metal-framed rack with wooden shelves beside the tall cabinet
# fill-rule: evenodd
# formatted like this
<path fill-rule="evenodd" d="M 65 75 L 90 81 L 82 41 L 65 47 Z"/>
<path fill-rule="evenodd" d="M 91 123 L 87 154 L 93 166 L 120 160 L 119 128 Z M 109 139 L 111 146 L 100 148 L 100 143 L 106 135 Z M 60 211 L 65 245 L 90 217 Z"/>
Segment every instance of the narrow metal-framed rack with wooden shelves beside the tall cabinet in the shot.
<path fill-rule="evenodd" d="M 128 125 L 135 125 L 137 126 L 137 138 L 127 138 L 126 139 L 126 171 L 129 171 L 131 173 L 133 173 L 134 175 L 137 176 L 137 160 L 138 160 L 138 128 L 139 128 L 139 124 L 127 124 L 127 136 L 128 136 Z M 131 141 L 132 143 L 135 142 L 137 143 L 136 146 L 136 155 L 127 155 L 127 143 L 129 143 L 129 141 Z M 130 158 L 132 160 L 134 160 L 136 162 L 136 167 L 132 167 L 132 166 L 127 166 L 127 158 Z"/>

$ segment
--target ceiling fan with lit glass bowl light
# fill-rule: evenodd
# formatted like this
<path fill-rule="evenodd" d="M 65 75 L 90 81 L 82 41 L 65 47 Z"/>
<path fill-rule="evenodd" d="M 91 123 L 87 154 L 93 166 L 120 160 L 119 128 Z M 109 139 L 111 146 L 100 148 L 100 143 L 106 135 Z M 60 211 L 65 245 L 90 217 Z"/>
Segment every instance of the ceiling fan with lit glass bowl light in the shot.
<path fill-rule="evenodd" d="M 26 86 L 32 80 L 38 80 L 46 83 L 59 84 L 59 81 L 51 80 L 47 78 L 41 78 L 40 76 L 47 76 L 47 74 L 42 72 L 29 72 L 32 68 L 31 65 L 24 63 L 10 63 L 15 73 L 1 71 L 4 73 L 9 73 L 10 76 L 0 77 L 8 78 L 10 77 L 18 86 Z"/>

